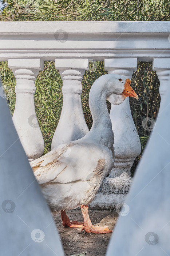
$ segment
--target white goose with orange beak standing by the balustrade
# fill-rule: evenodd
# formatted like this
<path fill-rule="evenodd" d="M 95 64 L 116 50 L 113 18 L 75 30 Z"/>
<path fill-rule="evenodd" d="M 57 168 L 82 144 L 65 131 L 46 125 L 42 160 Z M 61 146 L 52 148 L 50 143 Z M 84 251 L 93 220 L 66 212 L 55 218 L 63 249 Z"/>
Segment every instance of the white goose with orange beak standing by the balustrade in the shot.
<path fill-rule="evenodd" d="M 61 211 L 63 226 L 82 227 L 87 233 L 111 232 L 106 226 L 92 226 L 88 204 L 114 165 L 114 134 L 106 99 L 112 104 L 122 103 L 127 96 L 138 99 L 130 83 L 130 79 L 116 74 L 98 78 L 89 94 L 93 118 L 90 132 L 30 163 L 50 208 Z M 79 206 L 84 222 L 70 221 L 65 210 Z"/>

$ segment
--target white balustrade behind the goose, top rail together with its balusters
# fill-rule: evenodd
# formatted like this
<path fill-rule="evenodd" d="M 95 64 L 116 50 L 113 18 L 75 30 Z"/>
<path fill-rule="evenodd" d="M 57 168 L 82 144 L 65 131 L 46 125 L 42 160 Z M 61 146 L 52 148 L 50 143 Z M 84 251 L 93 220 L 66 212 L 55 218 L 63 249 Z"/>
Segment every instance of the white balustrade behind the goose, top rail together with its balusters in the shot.
<path fill-rule="evenodd" d="M 88 128 L 81 93 L 89 61 L 104 61 L 108 73 L 131 78 L 137 61 L 153 61 L 160 80 L 161 106 L 170 79 L 170 22 L 0 22 L 0 61 L 8 61 L 16 78 L 13 123 L 29 161 L 43 154 L 44 140 L 37 124 L 33 95 L 44 61 L 55 61 L 63 79 L 63 108 L 52 148 L 82 138 Z M 124 202 L 131 185 L 130 168 L 141 144 L 129 105 L 112 105 L 115 165 L 103 182 L 94 205 Z M 37 124 L 29 125 L 29 120 Z"/>

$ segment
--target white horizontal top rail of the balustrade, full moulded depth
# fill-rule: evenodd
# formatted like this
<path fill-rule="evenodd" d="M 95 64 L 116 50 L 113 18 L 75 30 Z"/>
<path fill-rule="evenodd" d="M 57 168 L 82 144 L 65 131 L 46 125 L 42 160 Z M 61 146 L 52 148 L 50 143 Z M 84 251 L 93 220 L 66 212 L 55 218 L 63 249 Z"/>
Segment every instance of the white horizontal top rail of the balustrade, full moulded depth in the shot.
<path fill-rule="evenodd" d="M 9 58 L 170 57 L 170 22 L 0 22 L 0 61 Z"/>

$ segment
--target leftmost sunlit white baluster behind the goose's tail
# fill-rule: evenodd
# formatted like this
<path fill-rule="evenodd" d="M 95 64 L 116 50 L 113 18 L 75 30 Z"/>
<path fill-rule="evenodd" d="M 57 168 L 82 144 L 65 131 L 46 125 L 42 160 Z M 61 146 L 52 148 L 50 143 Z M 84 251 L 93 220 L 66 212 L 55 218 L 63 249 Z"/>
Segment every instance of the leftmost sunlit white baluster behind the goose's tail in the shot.
<path fill-rule="evenodd" d="M 40 59 L 9 59 L 8 66 L 16 78 L 16 103 L 13 123 L 29 161 L 44 152 L 44 139 L 37 121 L 34 94 L 35 79 L 44 62 Z"/>

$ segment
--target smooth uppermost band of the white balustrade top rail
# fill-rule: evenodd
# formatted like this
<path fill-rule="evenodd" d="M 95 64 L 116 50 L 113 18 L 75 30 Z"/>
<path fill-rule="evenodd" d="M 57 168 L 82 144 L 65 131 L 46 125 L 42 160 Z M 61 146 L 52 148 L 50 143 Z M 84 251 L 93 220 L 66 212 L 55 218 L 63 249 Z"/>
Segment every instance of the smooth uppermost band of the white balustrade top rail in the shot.
<path fill-rule="evenodd" d="M 24 21 L 0 22 L 0 34 L 67 33 L 170 33 L 170 22 L 159 21 Z"/>

